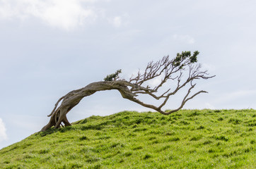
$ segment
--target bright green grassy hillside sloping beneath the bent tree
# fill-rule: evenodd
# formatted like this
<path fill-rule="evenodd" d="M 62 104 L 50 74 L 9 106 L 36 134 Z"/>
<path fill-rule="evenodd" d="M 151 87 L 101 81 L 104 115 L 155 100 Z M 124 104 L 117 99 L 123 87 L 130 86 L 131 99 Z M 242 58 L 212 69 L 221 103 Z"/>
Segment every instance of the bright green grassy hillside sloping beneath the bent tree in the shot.
<path fill-rule="evenodd" d="M 255 168 L 255 159 L 255 110 L 91 116 L 0 150 L 1 168 Z"/>

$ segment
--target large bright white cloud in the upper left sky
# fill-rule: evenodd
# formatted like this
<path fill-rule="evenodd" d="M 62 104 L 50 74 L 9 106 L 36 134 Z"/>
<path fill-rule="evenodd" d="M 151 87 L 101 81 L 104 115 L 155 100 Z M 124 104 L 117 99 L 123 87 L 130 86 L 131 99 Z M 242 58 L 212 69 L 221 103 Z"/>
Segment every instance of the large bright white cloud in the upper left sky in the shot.
<path fill-rule="evenodd" d="M 84 3 L 95 0 L 0 0 L 0 18 L 40 18 L 48 25 L 73 30 L 97 18 L 97 10 Z"/>

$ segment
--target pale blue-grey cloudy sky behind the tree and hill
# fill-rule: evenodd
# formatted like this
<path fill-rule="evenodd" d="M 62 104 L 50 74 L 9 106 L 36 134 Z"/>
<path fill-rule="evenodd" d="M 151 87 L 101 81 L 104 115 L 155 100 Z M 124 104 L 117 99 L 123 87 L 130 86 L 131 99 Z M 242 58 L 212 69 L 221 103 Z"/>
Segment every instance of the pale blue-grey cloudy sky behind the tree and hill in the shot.
<path fill-rule="evenodd" d="M 0 0 L 0 149 L 38 132 L 56 101 L 122 69 L 200 51 L 216 75 L 185 108 L 256 108 L 255 0 Z M 166 108 L 176 108 L 177 96 Z M 117 91 L 86 97 L 74 122 L 124 110 L 149 111 Z"/>

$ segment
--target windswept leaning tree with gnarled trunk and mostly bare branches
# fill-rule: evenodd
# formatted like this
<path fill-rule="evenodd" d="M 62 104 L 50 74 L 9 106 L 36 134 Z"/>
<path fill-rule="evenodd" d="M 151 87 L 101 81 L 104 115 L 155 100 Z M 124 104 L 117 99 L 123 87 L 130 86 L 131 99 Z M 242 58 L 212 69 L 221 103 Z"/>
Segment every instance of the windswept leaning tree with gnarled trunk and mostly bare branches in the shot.
<path fill-rule="evenodd" d="M 62 123 L 64 123 L 65 126 L 71 125 L 66 118 L 66 114 L 69 113 L 69 111 L 71 111 L 83 97 L 90 96 L 95 92 L 103 90 L 117 89 L 124 99 L 129 99 L 141 106 L 152 108 L 163 115 L 169 115 L 170 113 L 179 111 L 186 102 L 193 99 L 194 96 L 197 96 L 200 93 L 206 93 L 206 91 L 201 90 L 199 92 L 194 92 L 194 94 L 190 94 L 196 85 L 194 80 L 206 80 L 214 77 L 209 76 L 206 70 L 200 70 L 201 65 L 197 63 L 198 54 L 199 51 L 194 51 L 193 54 L 191 54 L 190 51 L 184 51 L 181 54 L 178 53 L 175 58 L 164 56 L 160 61 L 149 62 L 144 71 L 141 72 L 139 70 L 139 72 L 136 75 L 132 75 L 129 80 L 121 79 L 119 77 L 121 70 L 117 70 L 116 73 L 107 75 L 104 81 L 93 82 L 86 87 L 73 90 L 57 101 L 52 113 L 48 115 L 48 117 L 51 117 L 50 122 L 45 125 L 41 131 L 45 131 L 52 126 L 58 128 Z M 158 84 L 152 85 L 155 83 L 150 81 L 154 79 L 161 80 L 158 80 Z M 163 85 L 168 84 L 168 82 L 173 82 L 172 84 L 175 84 L 174 87 L 169 86 L 164 92 L 158 94 L 158 91 L 161 90 L 161 88 L 165 89 Z M 165 106 L 170 96 L 176 94 L 180 89 L 187 90 L 180 106 L 170 111 L 163 111 L 163 106 Z M 140 101 L 138 96 L 143 94 L 151 96 L 153 99 L 161 100 L 161 104 L 155 106 Z M 62 101 L 62 104 L 58 107 L 60 101 Z"/>

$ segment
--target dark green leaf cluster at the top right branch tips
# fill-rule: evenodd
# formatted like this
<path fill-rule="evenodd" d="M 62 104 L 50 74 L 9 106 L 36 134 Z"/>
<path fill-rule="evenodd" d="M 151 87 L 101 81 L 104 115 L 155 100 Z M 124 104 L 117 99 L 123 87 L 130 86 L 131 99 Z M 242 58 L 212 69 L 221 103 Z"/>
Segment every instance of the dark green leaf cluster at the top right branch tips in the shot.
<path fill-rule="evenodd" d="M 194 54 L 191 55 L 190 51 L 182 51 L 182 53 L 178 53 L 176 58 L 173 60 L 174 66 L 180 66 L 182 61 L 185 61 L 188 59 L 189 63 L 196 63 L 197 62 L 197 55 L 199 54 L 199 51 L 194 51 Z M 182 67 L 183 65 L 181 65 Z"/>

